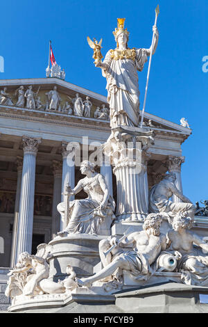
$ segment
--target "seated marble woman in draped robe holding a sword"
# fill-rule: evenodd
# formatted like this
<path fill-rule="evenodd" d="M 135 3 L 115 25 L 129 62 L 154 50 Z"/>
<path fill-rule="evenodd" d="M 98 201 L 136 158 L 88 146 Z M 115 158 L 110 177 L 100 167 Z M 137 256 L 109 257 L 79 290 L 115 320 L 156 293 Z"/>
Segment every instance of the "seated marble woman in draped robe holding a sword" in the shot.
<path fill-rule="evenodd" d="M 86 177 L 69 192 L 76 195 L 83 190 L 88 197 L 69 202 L 69 223 L 67 228 L 58 233 L 61 237 L 70 233 L 98 234 L 102 221 L 107 217 L 114 218 L 115 203 L 103 175 L 96 173 L 94 164 L 87 160 L 81 163 L 80 172 Z M 64 213 L 64 207 L 64 202 L 57 206 L 60 214 Z"/>

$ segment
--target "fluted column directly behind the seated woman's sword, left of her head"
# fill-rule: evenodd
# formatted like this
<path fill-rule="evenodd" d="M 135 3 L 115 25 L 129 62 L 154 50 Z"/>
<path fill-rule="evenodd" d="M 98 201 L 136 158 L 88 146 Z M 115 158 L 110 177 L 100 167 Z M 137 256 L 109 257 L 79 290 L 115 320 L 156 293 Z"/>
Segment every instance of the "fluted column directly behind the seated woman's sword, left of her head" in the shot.
<path fill-rule="evenodd" d="M 75 186 L 75 166 L 71 157 L 71 147 L 70 150 L 67 150 L 67 142 L 62 143 L 62 193 L 65 191 L 65 186 L 69 184 L 71 189 Z M 73 200 L 74 196 L 70 197 L 70 200 Z M 64 196 L 62 195 L 62 201 L 64 201 Z M 64 229 L 64 221 L 60 221 L 60 230 Z"/>

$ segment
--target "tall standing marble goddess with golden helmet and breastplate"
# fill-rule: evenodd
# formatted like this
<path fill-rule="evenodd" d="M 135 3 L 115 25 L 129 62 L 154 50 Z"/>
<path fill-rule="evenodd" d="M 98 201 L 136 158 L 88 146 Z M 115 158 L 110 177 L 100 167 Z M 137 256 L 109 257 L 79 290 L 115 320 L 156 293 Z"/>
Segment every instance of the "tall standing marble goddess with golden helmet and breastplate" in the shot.
<path fill-rule="evenodd" d="M 107 102 L 110 104 L 110 126 L 138 126 L 139 123 L 139 85 L 137 70 L 141 72 L 150 56 L 150 49 L 128 48 L 129 32 L 124 29 L 124 20 L 118 19 L 118 28 L 113 32 L 117 43 L 114 50 L 107 52 L 103 63 L 97 61 L 103 76 L 107 79 Z M 157 48 L 158 31 L 153 26 Z"/>

